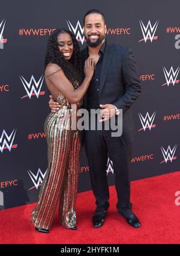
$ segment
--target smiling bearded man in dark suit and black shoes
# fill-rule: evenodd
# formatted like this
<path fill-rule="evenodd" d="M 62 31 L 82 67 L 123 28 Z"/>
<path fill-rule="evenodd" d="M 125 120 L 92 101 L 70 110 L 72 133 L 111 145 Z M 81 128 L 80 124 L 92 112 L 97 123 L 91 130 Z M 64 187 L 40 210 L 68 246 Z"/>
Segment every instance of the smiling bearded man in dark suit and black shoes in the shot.
<path fill-rule="evenodd" d="M 113 163 L 115 187 L 118 196 L 116 208 L 134 228 L 140 222 L 131 210 L 129 164 L 131 142 L 134 139 L 134 123 L 130 107 L 141 92 L 131 49 L 108 43 L 105 39 L 104 14 L 90 10 L 83 19 L 84 33 L 88 47 L 82 51 L 82 64 L 88 56 L 94 59 L 95 71 L 85 95 L 85 108 L 89 111 L 101 108 L 102 130 L 85 131 L 85 151 L 88 158 L 92 191 L 97 208 L 92 223 L 100 228 L 109 208 L 109 187 L 107 184 L 107 158 Z M 53 108 L 53 102 L 49 102 Z M 112 130 L 104 129 L 104 122 L 118 116 L 122 109 L 122 136 L 112 137 Z M 91 117 L 91 116 L 90 116 Z"/>

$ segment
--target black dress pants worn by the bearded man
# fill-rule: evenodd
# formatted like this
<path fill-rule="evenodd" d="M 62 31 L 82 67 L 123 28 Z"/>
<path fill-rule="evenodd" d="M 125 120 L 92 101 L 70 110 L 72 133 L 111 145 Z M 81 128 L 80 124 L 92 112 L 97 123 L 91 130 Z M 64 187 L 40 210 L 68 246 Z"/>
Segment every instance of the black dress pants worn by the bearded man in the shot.
<path fill-rule="evenodd" d="M 109 207 L 109 187 L 106 172 L 108 157 L 113 162 L 115 173 L 115 187 L 118 197 L 116 208 L 122 212 L 131 208 L 129 178 L 131 145 L 124 145 L 121 137 L 112 137 L 111 131 L 103 128 L 100 131 L 85 131 L 85 151 L 97 208 L 107 209 Z"/>

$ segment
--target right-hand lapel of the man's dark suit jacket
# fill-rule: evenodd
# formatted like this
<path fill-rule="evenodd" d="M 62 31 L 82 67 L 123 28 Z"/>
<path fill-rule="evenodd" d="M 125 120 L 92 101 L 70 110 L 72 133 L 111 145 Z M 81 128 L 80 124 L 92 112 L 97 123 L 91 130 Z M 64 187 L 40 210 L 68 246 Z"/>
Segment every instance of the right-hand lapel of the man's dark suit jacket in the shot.
<path fill-rule="evenodd" d="M 113 57 L 113 47 L 112 45 L 106 42 L 106 49 L 104 51 L 104 56 L 103 56 L 103 64 L 101 67 L 100 93 L 101 93 L 101 90 L 103 89 L 112 57 Z"/>

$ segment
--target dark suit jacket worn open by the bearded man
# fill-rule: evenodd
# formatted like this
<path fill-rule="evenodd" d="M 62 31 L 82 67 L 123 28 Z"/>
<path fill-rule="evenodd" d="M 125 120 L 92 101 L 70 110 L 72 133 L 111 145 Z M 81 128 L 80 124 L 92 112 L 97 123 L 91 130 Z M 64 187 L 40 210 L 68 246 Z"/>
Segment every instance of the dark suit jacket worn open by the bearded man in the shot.
<path fill-rule="evenodd" d="M 82 64 L 85 63 L 87 49 L 82 50 Z M 100 76 L 100 104 L 113 104 L 122 109 L 122 142 L 124 145 L 134 139 L 135 129 L 130 107 L 142 89 L 133 51 L 124 46 L 108 43 L 103 55 Z M 87 93 L 84 107 L 87 104 Z"/>

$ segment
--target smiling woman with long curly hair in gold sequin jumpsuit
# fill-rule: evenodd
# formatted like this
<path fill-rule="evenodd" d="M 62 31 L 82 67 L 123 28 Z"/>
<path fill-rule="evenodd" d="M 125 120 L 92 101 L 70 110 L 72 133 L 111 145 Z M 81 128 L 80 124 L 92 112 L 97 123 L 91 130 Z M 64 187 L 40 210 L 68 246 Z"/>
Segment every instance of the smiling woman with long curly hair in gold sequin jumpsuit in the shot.
<path fill-rule="evenodd" d="M 82 98 L 94 73 L 94 61 L 85 61 L 85 78 L 81 77 L 79 45 L 67 30 L 55 30 L 49 37 L 45 58 L 45 78 L 50 94 L 61 105 L 50 113 L 44 123 L 48 146 L 48 169 L 41 185 L 38 204 L 32 210 L 31 222 L 35 229 L 49 233 L 56 207 L 59 222 L 76 228 L 76 196 L 79 173 L 80 132 L 71 129 L 79 117 Z M 59 206 L 58 206 L 59 204 Z"/>

